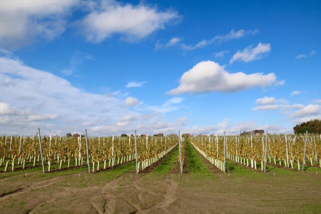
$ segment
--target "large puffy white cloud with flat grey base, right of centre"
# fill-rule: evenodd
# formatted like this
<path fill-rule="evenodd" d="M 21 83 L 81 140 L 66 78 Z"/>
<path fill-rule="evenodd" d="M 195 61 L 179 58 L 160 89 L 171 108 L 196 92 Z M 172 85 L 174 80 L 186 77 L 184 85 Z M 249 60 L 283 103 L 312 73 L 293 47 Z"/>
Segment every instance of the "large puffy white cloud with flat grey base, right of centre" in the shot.
<path fill-rule="evenodd" d="M 180 85 L 168 93 L 235 92 L 252 87 L 271 86 L 276 83 L 274 73 L 229 73 L 218 63 L 203 61 L 185 72 L 180 79 Z"/>

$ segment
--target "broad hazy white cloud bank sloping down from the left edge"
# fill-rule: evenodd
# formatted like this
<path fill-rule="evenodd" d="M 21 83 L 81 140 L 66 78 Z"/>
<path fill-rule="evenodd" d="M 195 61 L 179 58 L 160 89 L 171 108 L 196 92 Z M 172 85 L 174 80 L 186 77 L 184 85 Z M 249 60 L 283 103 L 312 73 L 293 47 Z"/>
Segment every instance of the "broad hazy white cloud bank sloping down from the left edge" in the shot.
<path fill-rule="evenodd" d="M 8 57 L 0 57 L 0 91 L 0 135 L 34 135 L 38 127 L 43 134 L 58 135 L 85 129 L 90 136 L 135 129 L 148 134 L 176 133 L 185 121 L 164 119 L 164 114 L 179 109 L 174 106 L 179 98 L 168 101 L 168 106 L 141 103 L 131 110 L 122 95 L 89 93 L 64 78 Z M 128 100 L 129 104 L 137 102 L 134 97 Z"/>

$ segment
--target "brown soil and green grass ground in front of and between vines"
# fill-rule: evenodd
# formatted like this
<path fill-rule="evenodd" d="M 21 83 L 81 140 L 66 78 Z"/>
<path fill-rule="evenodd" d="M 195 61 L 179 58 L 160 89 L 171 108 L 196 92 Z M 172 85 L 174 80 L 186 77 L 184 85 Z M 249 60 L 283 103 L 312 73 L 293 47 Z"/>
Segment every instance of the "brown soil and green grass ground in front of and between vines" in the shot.
<path fill-rule="evenodd" d="M 152 141 L 154 140 L 148 141 L 148 148 L 152 146 Z M 264 173 L 260 167 L 253 169 L 244 164 L 244 161 L 240 163 L 233 161 L 233 158 L 227 158 L 226 173 L 223 173 L 209 161 L 209 157 L 201 155 L 191 141 L 187 139 L 182 142 L 183 174 L 180 173 L 179 145 L 176 141 L 170 152 L 154 163 L 145 165 L 144 169 L 140 167 L 138 174 L 135 161 L 124 161 L 95 173 L 91 169 L 90 174 L 86 164 L 78 163 L 78 166 L 75 166 L 77 159 L 73 158 L 69 167 L 66 166 L 66 161 L 60 170 L 59 164 L 54 164 L 56 161 L 53 160 L 51 172 L 48 172 L 46 166 L 46 173 L 42 172 L 42 166 L 38 163 L 35 167 L 28 168 L 27 166 L 33 165 L 32 161 L 26 164 L 25 169 L 21 169 L 19 165 L 14 171 L 10 169 L 4 172 L 2 166 L 0 173 L 2 211 L 5 213 L 319 213 L 321 211 L 321 168 L 317 164 L 311 166 L 306 161 L 304 171 L 298 171 L 295 167 L 292 169 L 290 166 L 285 166 L 284 163 L 279 165 L 267 161 Z M 145 140 L 141 140 L 140 143 L 145 147 Z M 141 153 L 143 150 L 140 147 L 138 151 Z M 144 158 L 140 161 L 143 162 Z"/>

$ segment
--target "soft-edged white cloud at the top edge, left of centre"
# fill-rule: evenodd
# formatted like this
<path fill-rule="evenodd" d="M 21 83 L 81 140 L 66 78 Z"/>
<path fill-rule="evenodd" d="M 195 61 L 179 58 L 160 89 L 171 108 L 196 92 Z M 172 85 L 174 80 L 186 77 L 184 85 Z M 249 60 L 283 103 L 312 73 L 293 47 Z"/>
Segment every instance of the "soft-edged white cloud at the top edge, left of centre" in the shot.
<path fill-rule="evenodd" d="M 80 33 L 90 42 L 102 42 L 113 34 L 119 34 L 126 40 L 132 41 L 164 29 L 166 24 L 179 18 L 178 13 L 171 10 L 158 11 L 143 4 L 134 6 L 103 1 L 78 22 L 78 27 Z"/>

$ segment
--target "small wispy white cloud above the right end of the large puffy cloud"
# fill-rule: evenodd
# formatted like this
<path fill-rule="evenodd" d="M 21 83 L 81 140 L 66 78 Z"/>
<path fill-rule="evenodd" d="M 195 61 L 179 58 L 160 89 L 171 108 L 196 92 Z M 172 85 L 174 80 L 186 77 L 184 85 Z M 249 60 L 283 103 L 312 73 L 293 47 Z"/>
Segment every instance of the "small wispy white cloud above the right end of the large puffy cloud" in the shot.
<path fill-rule="evenodd" d="M 264 54 L 269 53 L 271 50 L 270 43 L 259 43 L 255 48 L 252 46 L 246 47 L 243 51 L 238 50 L 230 60 L 232 64 L 234 61 L 250 62 L 258 60 L 263 57 Z"/>

